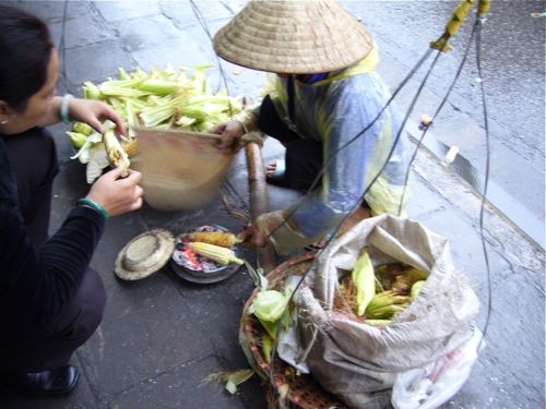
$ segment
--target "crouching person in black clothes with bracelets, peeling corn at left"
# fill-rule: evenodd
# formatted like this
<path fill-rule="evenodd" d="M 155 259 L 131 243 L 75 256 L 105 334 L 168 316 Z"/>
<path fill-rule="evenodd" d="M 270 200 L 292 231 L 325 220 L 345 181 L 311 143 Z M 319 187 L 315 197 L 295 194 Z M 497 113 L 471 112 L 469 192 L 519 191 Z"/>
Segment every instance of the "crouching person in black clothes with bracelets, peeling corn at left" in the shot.
<path fill-rule="evenodd" d="M 43 128 L 69 116 L 104 132 L 106 104 L 56 95 L 59 58 L 46 25 L 0 5 L 0 375 L 25 396 L 70 393 L 69 364 L 102 321 L 105 289 L 88 268 L 108 216 L 142 205 L 141 175 L 115 169 L 48 238 L 55 142 Z"/>

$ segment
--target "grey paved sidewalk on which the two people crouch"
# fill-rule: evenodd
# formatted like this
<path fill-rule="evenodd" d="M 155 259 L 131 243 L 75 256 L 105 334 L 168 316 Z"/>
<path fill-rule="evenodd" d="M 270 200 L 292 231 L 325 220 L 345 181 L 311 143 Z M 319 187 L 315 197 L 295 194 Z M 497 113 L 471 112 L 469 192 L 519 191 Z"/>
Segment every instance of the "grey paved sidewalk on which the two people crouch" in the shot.
<path fill-rule="evenodd" d="M 69 2 L 63 26 L 62 1 L 4 1 L 37 14 L 59 44 L 64 28 L 66 80 L 59 93 L 81 95 L 84 81 L 104 81 L 119 67 L 216 64 L 211 40 L 245 1 Z M 200 13 L 198 13 L 197 9 Z M 257 96 L 263 75 L 223 63 L 233 95 Z M 219 79 L 212 70 L 213 86 Z M 72 154 L 64 125 L 54 127 L 63 160 L 55 187 L 52 226 L 57 228 L 78 197 L 88 189 L 84 168 L 67 160 Z M 441 130 L 437 130 L 440 132 Z M 411 134 L 417 134 L 410 127 Z M 427 136 L 428 137 L 428 136 Z M 238 195 L 248 199 L 247 169 L 241 153 L 228 173 Z M 282 156 L 268 140 L 264 161 Z M 488 277 L 480 241 L 480 197 L 425 148 L 413 167 L 413 201 L 408 216 L 449 238 L 455 266 L 471 279 L 482 301 L 478 326 L 487 315 Z M 294 199 L 294 192 L 270 188 L 272 209 Z M 248 203 L 247 203 L 248 206 Z M 122 282 L 111 273 L 118 251 L 143 231 L 163 227 L 174 233 L 217 224 L 242 228 L 222 201 L 193 212 L 157 212 L 150 206 L 116 217 L 93 260 L 107 290 L 105 318 L 74 357 L 82 378 L 70 397 L 24 400 L 0 389 L 0 407 L 13 409 L 158 409 L 265 408 L 257 376 L 229 395 L 203 380 L 219 371 L 248 368 L 238 345 L 242 305 L 252 290 L 246 273 L 226 281 L 198 286 L 165 267 L 142 281 Z M 543 408 L 544 397 L 544 252 L 495 208 L 486 207 L 484 237 L 490 265 L 492 305 L 486 347 L 463 388 L 447 408 Z M 245 256 L 253 261 L 253 252 Z"/>

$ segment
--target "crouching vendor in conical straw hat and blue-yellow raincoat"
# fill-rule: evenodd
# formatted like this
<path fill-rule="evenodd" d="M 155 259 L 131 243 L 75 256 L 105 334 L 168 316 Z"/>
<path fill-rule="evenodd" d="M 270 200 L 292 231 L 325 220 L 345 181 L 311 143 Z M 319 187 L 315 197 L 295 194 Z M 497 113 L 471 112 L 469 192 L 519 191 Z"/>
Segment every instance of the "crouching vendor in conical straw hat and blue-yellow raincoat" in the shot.
<path fill-rule="evenodd" d="M 289 253 L 328 237 L 379 172 L 364 205 L 373 215 L 397 213 L 407 170 L 403 139 L 389 152 L 401 120 L 392 104 L 381 112 L 390 95 L 375 72 L 377 47 L 356 19 L 335 1 L 251 1 L 216 33 L 214 49 L 227 61 L 275 74 L 245 120 L 212 130 L 225 136 L 222 147 L 238 146 L 254 130 L 277 139 L 285 160 L 269 166 L 268 179 L 296 190 L 309 189 L 325 167 L 302 203 L 263 214 L 241 232 L 247 245 L 269 239 Z"/>

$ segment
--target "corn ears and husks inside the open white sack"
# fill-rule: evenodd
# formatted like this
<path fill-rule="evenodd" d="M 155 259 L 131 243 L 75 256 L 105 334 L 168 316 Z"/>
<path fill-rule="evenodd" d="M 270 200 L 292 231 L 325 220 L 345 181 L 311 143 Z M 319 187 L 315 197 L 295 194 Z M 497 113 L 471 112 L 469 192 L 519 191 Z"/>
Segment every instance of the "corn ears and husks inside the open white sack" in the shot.
<path fill-rule="evenodd" d="M 334 308 L 371 325 L 388 325 L 417 298 L 427 278 L 427 272 L 400 263 L 375 267 L 365 249 L 351 276 L 340 282 Z"/>

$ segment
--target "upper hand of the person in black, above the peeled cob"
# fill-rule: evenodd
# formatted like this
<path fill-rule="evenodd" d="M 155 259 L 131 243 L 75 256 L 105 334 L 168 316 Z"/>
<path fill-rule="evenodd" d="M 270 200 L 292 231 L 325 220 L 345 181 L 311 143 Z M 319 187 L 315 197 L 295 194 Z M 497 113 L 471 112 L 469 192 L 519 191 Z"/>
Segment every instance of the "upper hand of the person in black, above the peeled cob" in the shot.
<path fill-rule="evenodd" d="M 75 121 L 87 123 L 98 133 L 105 133 L 106 128 L 103 122 L 109 119 L 116 124 L 116 134 L 126 134 L 123 119 L 106 103 L 93 99 L 71 98 L 69 115 Z"/>

